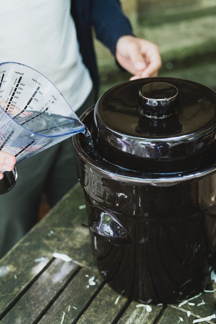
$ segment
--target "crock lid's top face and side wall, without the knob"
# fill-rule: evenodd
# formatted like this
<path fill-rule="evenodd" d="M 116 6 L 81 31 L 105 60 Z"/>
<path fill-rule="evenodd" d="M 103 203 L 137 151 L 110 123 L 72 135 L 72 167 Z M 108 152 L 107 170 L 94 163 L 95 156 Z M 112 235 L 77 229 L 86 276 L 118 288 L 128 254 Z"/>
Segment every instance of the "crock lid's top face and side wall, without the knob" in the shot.
<path fill-rule="evenodd" d="M 178 89 L 175 111 L 162 119 L 146 117 L 140 107 L 140 88 L 155 81 L 169 82 Z M 187 80 L 134 80 L 110 89 L 98 100 L 94 121 L 97 151 L 111 163 L 125 168 L 134 164 L 136 170 L 145 171 L 154 159 L 158 167 L 154 165 L 153 172 L 160 173 L 175 169 L 175 164 L 176 170 L 186 170 L 184 159 L 188 157 L 188 168 L 192 170 L 197 164 L 193 166 L 191 160 L 199 161 L 201 167 L 204 151 L 215 152 L 211 145 L 216 138 L 216 93 Z"/>

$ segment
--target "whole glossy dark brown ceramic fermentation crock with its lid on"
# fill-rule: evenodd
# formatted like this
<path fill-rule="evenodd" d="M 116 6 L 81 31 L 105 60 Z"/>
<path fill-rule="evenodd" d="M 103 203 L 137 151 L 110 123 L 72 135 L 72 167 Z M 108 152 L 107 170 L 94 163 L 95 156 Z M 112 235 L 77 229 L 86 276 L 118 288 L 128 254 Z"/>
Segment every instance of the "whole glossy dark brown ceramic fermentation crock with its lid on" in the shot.
<path fill-rule="evenodd" d="M 203 290 L 216 252 L 216 93 L 175 78 L 107 91 L 74 136 L 97 266 L 146 303 Z"/>

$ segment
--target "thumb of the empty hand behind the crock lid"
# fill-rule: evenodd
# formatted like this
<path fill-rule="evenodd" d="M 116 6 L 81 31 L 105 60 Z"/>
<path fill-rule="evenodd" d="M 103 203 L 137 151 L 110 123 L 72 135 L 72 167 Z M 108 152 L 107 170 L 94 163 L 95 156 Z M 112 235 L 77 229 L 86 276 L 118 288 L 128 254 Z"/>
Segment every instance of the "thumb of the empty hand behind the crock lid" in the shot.
<path fill-rule="evenodd" d="M 136 42 L 131 42 L 127 46 L 128 56 L 131 59 L 131 63 L 138 71 L 142 71 L 146 68 L 146 63 L 143 55 L 140 52 L 140 45 Z"/>

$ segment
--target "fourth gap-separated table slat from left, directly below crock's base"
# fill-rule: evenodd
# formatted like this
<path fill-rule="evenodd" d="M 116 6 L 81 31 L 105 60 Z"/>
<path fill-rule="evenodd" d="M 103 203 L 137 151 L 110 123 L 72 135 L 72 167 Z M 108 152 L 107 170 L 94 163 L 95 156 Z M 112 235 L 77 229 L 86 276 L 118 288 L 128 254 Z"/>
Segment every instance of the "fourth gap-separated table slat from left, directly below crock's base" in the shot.
<path fill-rule="evenodd" d="M 152 306 L 151 312 L 146 312 L 145 307 L 136 307 L 139 302 L 131 302 L 118 324 L 153 324 L 163 309 L 163 306 Z"/>

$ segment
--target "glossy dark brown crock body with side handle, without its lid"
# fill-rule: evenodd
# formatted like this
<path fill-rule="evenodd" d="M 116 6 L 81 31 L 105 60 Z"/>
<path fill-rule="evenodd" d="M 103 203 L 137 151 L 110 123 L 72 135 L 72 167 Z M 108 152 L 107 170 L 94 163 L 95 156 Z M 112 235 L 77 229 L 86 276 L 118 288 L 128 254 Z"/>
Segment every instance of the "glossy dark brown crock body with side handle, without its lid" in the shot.
<path fill-rule="evenodd" d="M 92 110 L 82 119 L 89 129 L 92 119 Z M 216 172 L 137 181 L 97 154 L 92 163 L 82 134 L 74 147 L 95 260 L 113 289 L 155 304 L 199 293 L 216 252 Z M 114 172 L 128 172 L 130 181 Z"/>

